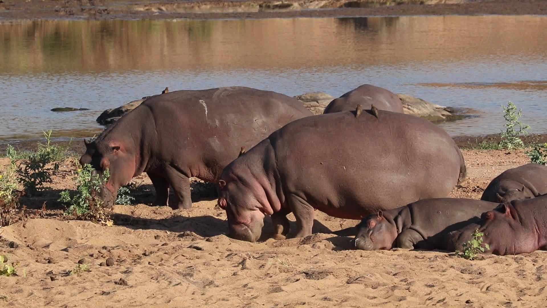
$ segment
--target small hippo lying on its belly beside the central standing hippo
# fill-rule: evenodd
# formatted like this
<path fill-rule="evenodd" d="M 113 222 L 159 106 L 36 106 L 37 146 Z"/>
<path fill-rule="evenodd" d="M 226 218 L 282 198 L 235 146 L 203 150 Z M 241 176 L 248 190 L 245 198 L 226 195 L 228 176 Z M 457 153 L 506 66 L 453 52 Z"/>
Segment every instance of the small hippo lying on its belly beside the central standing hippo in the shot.
<path fill-rule="evenodd" d="M 498 203 L 464 198 L 423 199 L 407 206 L 379 210 L 356 226 L 355 247 L 362 250 L 391 248 L 447 249 L 448 232 L 476 223 Z"/>

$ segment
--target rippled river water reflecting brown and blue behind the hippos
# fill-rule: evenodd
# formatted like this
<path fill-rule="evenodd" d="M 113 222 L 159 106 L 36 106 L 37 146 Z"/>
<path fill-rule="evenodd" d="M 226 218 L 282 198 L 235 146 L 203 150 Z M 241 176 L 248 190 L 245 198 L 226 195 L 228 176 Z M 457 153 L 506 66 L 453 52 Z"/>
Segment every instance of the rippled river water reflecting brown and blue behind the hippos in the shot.
<path fill-rule="evenodd" d="M 441 124 L 451 135 L 499 132 L 508 100 L 544 133 L 545 38 L 544 16 L 0 23 L 0 139 L 92 135 L 104 109 L 165 87 L 339 96 L 363 83 L 475 109 Z M 50 111 L 65 106 L 90 110 Z"/>

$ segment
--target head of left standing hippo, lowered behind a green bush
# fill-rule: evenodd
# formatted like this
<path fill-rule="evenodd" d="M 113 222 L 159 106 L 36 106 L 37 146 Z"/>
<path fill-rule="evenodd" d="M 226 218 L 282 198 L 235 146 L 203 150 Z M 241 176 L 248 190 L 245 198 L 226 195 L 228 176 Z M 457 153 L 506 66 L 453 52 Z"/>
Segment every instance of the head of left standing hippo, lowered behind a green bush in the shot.
<path fill-rule="evenodd" d="M 101 187 L 100 198 L 106 206 L 111 206 L 120 186 L 127 184 L 135 173 L 135 155 L 126 147 L 112 140 L 95 140 L 89 142 L 84 139 L 86 151 L 80 157 L 80 164 L 91 164 L 96 174 L 102 175 L 108 169 L 110 177 L 104 187 Z"/>

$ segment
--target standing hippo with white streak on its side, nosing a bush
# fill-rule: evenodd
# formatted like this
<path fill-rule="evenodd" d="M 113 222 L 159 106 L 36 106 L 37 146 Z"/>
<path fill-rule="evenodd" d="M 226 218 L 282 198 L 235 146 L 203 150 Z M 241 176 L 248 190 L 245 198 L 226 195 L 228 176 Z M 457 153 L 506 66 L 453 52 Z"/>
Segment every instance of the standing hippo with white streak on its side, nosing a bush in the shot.
<path fill-rule="evenodd" d="M 168 204 L 171 185 L 171 207 L 190 208 L 190 177 L 217 181 L 241 146 L 249 149 L 312 115 L 287 95 L 246 87 L 167 92 L 142 102 L 95 141 L 85 141 L 80 163 L 109 169 L 104 201 L 114 201 L 120 186 L 146 172 L 156 190 L 154 205 Z"/>

